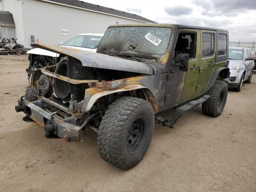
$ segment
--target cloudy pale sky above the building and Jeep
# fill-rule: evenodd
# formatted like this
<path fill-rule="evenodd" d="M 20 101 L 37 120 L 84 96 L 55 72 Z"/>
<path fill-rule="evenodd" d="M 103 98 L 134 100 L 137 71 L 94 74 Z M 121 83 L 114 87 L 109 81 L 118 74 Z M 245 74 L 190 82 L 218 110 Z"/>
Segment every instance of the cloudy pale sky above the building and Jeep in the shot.
<path fill-rule="evenodd" d="M 256 42 L 256 0 L 83 0 L 138 14 L 158 23 L 229 30 L 230 41 Z"/>

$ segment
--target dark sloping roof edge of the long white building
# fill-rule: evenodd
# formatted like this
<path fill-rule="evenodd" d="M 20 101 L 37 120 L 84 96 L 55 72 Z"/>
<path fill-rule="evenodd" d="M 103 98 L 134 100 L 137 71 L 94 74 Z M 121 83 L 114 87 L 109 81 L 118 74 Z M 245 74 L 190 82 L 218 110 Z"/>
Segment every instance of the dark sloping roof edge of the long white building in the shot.
<path fill-rule="evenodd" d="M 136 15 L 136 14 L 132 14 L 132 13 L 104 7 L 104 6 L 99 6 L 96 4 L 91 4 L 91 3 L 83 2 L 80 0 L 48 0 L 47 2 L 66 4 L 69 6 L 75 6 L 75 7 L 84 8 L 84 9 L 88 9 L 88 10 L 92 10 L 92 11 L 96 11 L 96 12 L 102 12 L 105 14 L 112 14 L 112 15 L 116 15 L 116 16 L 120 16 L 120 17 L 124 17 L 124 18 L 130 18 L 133 20 L 140 20 L 142 22 L 156 23 L 152 20 L 149 20 L 147 18 L 144 18 L 144 17 Z"/>

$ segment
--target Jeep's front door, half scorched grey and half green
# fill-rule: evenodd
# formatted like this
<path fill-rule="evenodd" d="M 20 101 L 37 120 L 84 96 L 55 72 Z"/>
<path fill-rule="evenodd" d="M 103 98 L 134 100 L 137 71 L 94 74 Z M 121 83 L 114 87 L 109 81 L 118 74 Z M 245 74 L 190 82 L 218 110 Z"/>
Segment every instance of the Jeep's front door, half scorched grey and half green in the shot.
<path fill-rule="evenodd" d="M 178 31 L 178 38 L 174 46 L 175 52 L 172 60 L 177 54 L 188 53 L 188 71 L 180 70 L 172 72 L 166 83 L 165 105 L 180 104 L 185 100 L 195 97 L 195 86 L 197 82 L 200 61 L 200 30 L 182 29 Z"/>

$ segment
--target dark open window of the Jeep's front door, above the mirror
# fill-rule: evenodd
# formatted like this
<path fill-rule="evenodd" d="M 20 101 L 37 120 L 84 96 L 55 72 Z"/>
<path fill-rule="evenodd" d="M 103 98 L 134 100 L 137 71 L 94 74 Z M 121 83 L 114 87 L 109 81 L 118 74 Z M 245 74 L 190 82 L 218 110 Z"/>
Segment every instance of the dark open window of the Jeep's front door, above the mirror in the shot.
<path fill-rule="evenodd" d="M 175 56 L 177 54 L 187 53 L 189 58 L 196 58 L 196 34 L 180 33 L 175 47 Z"/>

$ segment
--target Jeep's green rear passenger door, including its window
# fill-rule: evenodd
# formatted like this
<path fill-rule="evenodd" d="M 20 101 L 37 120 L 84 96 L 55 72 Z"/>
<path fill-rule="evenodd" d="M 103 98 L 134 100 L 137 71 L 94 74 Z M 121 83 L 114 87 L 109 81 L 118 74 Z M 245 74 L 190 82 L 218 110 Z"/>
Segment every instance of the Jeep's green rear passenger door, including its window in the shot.
<path fill-rule="evenodd" d="M 197 95 L 206 90 L 214 72 L 216 58 L 216 31 L 200 30 L 200 36 L 201 57 L 196 84 Z"/>

